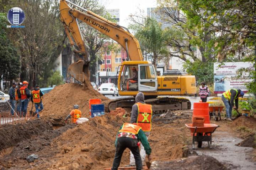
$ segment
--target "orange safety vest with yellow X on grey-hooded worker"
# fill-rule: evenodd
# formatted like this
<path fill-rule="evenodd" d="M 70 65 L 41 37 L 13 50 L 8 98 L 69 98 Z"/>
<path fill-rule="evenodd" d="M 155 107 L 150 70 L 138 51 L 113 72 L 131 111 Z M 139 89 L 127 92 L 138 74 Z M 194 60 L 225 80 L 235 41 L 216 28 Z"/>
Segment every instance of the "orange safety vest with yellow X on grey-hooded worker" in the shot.
<path fill-rule="evenodd" d="M 137 124 L 144 132 L 151 131 L 152 106 L 150 104 L 136 103 L 138 106 Z"/>

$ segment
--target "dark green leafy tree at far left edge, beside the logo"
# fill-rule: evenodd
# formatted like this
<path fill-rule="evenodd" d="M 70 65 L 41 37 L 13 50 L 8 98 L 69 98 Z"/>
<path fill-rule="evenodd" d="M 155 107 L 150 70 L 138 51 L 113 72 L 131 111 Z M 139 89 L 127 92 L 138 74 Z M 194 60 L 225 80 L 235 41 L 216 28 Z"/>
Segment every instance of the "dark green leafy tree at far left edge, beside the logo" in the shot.
<path fill-rule="evenodd" d="M 20 56 L 16 48 L 6 36 L 7 18 L 0 13 L 0 81 L 12 81 L 20 73 Z M 6 86 L 5 86 L 6 87 Z"/>

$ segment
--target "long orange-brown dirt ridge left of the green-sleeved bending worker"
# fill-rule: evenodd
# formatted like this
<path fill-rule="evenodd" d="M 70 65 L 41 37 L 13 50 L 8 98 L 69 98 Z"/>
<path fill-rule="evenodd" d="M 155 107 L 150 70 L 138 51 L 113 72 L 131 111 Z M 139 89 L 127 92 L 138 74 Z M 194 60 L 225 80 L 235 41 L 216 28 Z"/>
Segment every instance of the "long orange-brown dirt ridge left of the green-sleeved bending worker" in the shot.
<path fill-rule="evenodd" d="M 106 114 L 90 118 L 84 124 L 64 132 L 54 139 L 56 152 L 50 160 L 38 165 L 40 169 L 102 169 L 106 160 L 109 166 L 115 153 L 114 141 L 120 126 L 128 118 Z M 124 157 L 128 160 L 127 154 Z M 122 159 L 124 160 L 124 159 Z M 102 166 L 103 165 L 103 166 Z M 38 169 L 35 168 L 35 169 Z"/>

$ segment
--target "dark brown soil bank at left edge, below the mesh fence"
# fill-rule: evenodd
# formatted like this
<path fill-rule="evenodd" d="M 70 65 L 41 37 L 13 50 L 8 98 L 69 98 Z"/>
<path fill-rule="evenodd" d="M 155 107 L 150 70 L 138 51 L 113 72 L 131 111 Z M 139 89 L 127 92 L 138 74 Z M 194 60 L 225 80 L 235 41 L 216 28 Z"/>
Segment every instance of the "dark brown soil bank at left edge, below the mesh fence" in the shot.
<path fill-rule="evenodd" d="M 15 146 L 18 142 L 41 135 L 52 129 L 52 124 L 43 120 L 31 120 L 26 123 L 4 124 L 0 126 L 0 150 Z"/>

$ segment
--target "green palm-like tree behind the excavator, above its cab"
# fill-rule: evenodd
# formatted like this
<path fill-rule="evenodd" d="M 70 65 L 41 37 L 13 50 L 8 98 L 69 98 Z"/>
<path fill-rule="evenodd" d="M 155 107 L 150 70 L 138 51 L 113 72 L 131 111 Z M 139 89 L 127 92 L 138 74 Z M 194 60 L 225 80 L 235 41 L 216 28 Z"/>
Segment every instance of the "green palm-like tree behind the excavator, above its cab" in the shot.
<path fill-rule="evenodd" d="M 142 51 L 152 53 L 153 64 L 156 68 L 157 62 L 169 54 L 167 39 L 169 32 L 161 28 L 161 24 L 153 18 L 146 18 L 144 24 L 133 24 L 135 37 L 138 39 Z"/>

